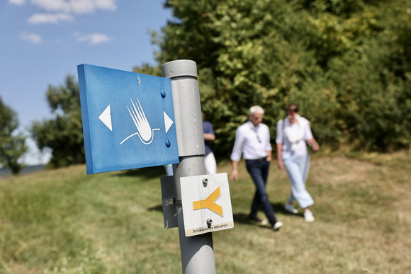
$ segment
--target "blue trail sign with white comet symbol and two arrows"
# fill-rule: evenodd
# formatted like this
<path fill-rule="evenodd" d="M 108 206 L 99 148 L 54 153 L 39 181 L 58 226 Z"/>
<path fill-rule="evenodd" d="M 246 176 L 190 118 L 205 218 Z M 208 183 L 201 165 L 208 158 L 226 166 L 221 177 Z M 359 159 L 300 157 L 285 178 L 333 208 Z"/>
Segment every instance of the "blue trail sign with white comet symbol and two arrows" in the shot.
<path fill-rule="evenodd" d="M 80 64 L 87 173 L 179 163 L 171 80 Z"/>

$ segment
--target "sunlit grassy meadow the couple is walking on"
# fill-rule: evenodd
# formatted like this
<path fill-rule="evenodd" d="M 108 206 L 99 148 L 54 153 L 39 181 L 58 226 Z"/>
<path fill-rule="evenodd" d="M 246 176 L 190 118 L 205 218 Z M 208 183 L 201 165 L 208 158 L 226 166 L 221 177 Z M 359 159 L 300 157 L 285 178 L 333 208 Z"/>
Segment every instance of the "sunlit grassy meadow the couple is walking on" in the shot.
<path fill-rule="evenodd" d="M 230 181 L 235 228 L 213 233 L 218 273 L 410 273 L 411 156 L 312 159 L 315 222 L 283 211 L 290 187 L 271 165 L 280 232 L 249 223 L 254 185 Z M 218 172 L 230 173 L 230 162 Z M 85 166 L 0 178 L 0 273 L 181 273 L 164 229 L 162 167 L 87 176 Z M 259 217 L 264 218 L 262 212 Z"/>

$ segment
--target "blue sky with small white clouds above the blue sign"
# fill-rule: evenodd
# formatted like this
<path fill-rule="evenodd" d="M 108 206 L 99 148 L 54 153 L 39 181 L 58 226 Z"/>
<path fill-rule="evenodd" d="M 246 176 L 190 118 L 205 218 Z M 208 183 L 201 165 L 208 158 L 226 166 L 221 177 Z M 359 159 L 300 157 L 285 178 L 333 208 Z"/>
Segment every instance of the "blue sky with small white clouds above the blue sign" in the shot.
<path fill-rule="evenodd" d="M 50 118 L 48 86 L 60 86 L 78 64 L 131 71 L 154 64 L 149 30 L 171 19 L 165 0 L 0 0 L 0 96 L 21 130 Z M 33 141 L 27 164 L 43 164 Z"/>

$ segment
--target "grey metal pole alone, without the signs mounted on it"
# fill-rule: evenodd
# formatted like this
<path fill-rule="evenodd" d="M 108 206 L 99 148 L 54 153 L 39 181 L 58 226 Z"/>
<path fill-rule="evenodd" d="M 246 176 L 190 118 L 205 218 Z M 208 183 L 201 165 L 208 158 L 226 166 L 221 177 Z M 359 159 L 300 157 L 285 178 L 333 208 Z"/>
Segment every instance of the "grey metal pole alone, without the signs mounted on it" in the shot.
<path fill-rule="evenodd" d="M 197 67 L 196 62 L 176 60 L 163 64 L 162 71 L 164 77 L 171 79 L 173 90 L 180 156 L 180 164 L 173 165 L 174 189 L 175 199 L 181 201 L 180 178 L 205 174 L 205 148 Z M 182 207 L 179 202 L 175 207 L 183 273 L 215 273 L 212 234 L 187 237 L 184 231 Z"/>

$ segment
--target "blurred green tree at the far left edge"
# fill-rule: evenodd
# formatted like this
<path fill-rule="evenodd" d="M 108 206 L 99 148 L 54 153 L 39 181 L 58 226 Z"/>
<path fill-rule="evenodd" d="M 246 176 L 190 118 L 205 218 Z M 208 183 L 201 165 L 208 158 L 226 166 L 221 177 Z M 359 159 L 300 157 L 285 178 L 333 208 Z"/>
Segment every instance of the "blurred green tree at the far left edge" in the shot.
<path fill-rule="evenodd" d="M 18 127 L 16 113 L 3 103 L 0 98 L 0 164 L 18 174 L 22 164 L 18 159 L 27 152 L 26 137 L 15 133 Z"/>

